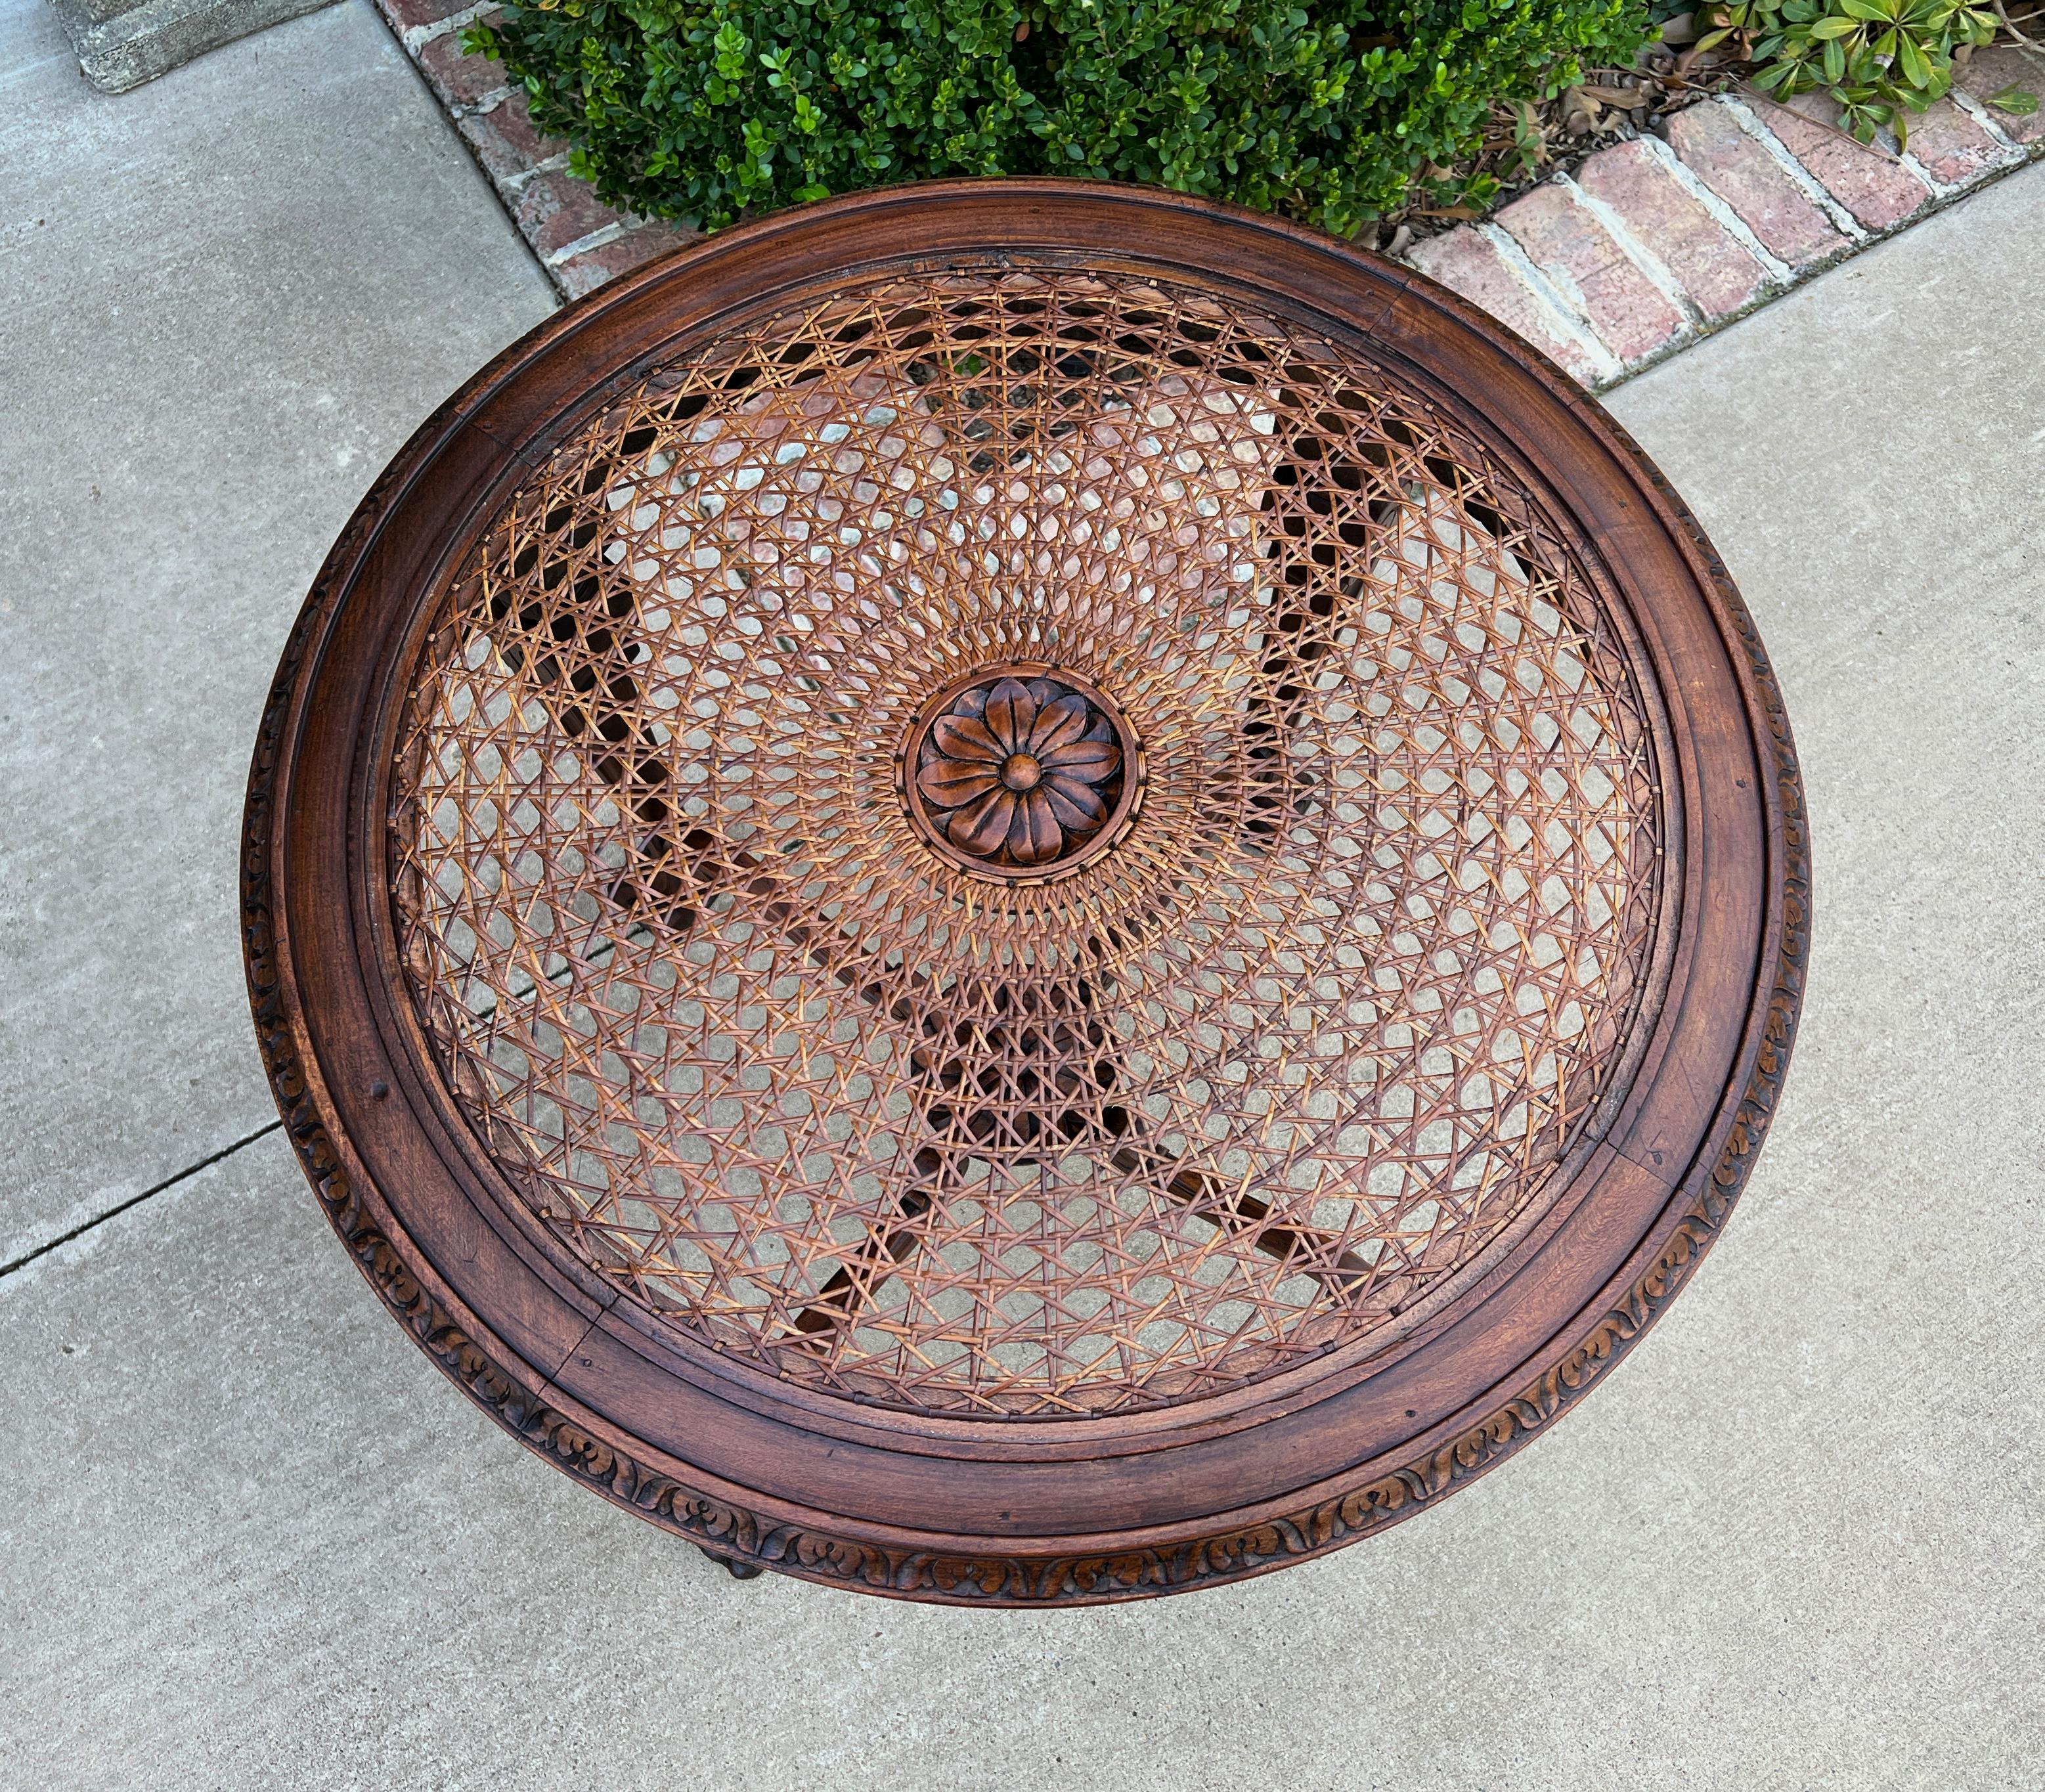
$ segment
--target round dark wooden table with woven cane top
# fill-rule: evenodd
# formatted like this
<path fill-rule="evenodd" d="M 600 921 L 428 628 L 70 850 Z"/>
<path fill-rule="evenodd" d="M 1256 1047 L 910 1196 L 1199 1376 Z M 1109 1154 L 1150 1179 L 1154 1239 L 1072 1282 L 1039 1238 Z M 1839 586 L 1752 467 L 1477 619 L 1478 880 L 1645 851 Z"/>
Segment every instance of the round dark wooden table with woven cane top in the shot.
<path fill-rule="evenodd" d="M 1415 274 L 906 186 L 569 307 L 378 479 L 249 779 L 329 1219 L 748 1573 L 1366 1536 L 1689 1279 L 1781 1086 L 1789 726 L 1644 456 Z"/>

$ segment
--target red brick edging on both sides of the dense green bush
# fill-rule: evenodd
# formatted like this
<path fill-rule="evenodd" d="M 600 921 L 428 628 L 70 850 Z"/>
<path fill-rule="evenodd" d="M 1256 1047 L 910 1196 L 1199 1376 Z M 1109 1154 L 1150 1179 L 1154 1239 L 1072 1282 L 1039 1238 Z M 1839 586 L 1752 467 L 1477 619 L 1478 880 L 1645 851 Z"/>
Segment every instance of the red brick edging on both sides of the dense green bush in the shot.
<path fill-rule="evenodd" d="M 603 205 L 569 174 L 569 145 L 534 129 L 501 65 L 462 55 L 462 29 L 491 16 L 489 0 L 376 6 L 564 299 L 689 241 L 679 225 Z M 1603 391 L 2045 158 L 2045 110 L 1988 108 L 2006 86 L 2045 92 L 2045 68 L 2004 45 L 1975 51 L 1953 96 L 1910 125 L 1906 153 L 1894 141 L 1861 147 L 1816 94 L 1787 106 L 1699 100 L 1671 115 L 1665 135 L 1599 149 L 1407 260 Z"/>

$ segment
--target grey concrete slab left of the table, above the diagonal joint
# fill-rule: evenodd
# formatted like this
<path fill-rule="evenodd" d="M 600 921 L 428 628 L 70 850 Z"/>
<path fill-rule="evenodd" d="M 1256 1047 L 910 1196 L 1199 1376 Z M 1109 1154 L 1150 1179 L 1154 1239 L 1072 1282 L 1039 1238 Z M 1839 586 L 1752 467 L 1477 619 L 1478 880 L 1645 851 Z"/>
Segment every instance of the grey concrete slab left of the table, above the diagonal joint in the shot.
<path fill-rule="evenodd" d="M 247 755 L 362 489 L 554 305 L 364 0 L 133 94 L 0 0 L 0 1264 L 276 1119 Z"/>

